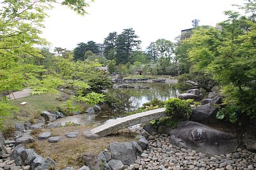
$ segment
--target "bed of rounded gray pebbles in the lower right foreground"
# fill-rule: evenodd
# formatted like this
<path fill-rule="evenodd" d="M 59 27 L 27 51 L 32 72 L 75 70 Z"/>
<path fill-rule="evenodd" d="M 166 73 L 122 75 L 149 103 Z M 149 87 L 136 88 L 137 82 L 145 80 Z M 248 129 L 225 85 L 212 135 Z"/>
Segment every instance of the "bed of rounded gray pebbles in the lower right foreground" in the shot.
<path fill-rule="evenodd" d="M 237 148 L 225 155 L 205 155 L 170 143 L 170 136 L 148 137 L 148 149 L 126 169 L 256 169 L 256 153 Z"/>

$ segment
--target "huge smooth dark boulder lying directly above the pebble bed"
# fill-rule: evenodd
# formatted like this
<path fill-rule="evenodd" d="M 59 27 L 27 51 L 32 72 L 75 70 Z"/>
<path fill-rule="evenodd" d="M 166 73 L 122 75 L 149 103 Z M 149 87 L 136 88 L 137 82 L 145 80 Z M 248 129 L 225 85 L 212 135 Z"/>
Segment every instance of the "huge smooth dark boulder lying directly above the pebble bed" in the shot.
<path fill-rule="evenodd" d="M 177 129 L 170 131 L 173 145 L 182 148 L 221 155 L 237 148 L 236 136 L 217 131 L 197 122 L 181 122 Z"/>

